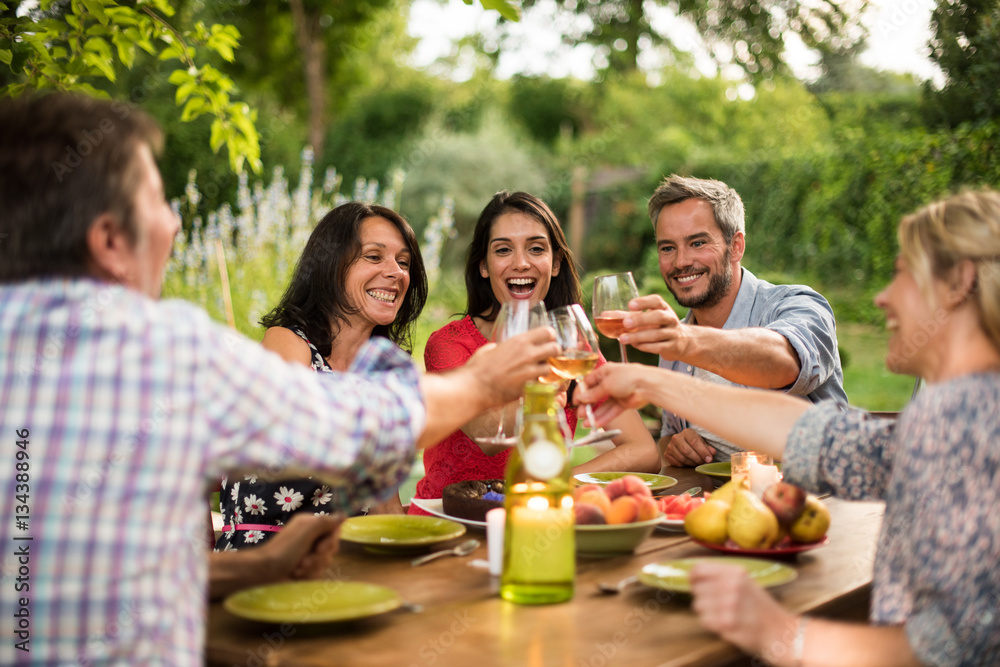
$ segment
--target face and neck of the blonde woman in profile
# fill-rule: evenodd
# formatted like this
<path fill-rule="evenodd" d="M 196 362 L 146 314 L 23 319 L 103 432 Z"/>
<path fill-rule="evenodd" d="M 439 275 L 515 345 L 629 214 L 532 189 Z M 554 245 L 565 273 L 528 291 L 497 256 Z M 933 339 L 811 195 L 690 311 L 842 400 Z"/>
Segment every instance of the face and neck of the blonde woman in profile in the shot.
<path fill-rule="evenodd" d="M 944 287 L 934 279 L 932 290 L 939 296 Z M 933 374 L 931 350 L 943 329 L 947 313 L 928 304 L 913 272 L 902 257 L 896 258 L 892 282 L 875 297 L 875 305 L 885 312 L 889 330 L 889 350 L 885 365 L 893 373 L 928 377 Z"/>

